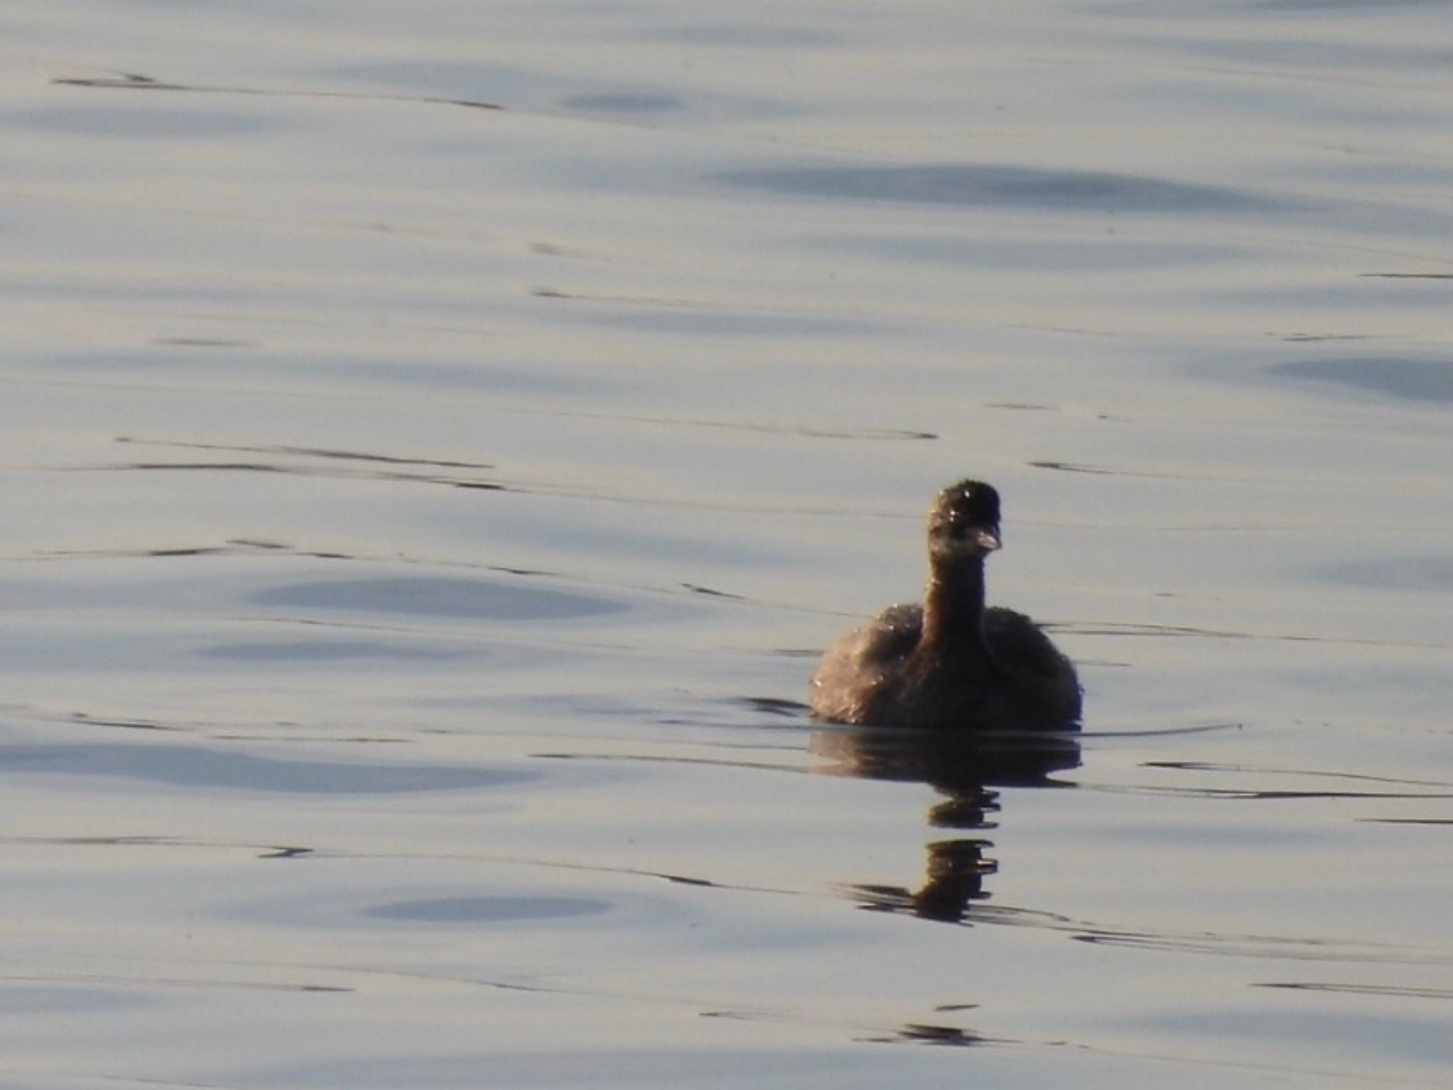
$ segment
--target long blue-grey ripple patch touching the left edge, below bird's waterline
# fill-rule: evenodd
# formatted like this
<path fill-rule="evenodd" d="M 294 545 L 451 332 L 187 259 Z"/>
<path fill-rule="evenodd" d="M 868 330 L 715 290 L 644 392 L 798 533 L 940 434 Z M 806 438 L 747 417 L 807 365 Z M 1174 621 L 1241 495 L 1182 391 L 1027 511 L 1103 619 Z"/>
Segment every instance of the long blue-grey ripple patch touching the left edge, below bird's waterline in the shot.
<path fill-rule="evenodd" d="M 183 788 L 235 788 L 311 795 L 395 794 L 498 788 L 541 779 L 517 769 L 452 764 L 353 764 L 283 760 L 196 746 L 7 746 L 6 773 L 112 776 Z"/>

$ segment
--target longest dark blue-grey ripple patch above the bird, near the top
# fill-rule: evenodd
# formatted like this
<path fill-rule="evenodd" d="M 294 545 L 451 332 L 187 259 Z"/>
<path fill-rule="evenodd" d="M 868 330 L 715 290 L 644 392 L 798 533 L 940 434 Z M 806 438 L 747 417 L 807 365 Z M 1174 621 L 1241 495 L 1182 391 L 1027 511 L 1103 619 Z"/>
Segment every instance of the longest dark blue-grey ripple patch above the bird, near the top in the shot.
<path fill-rule="evenodd" d="M 1221 186 L 1167 182 L 1138 174 L 975 163 L 729 170 L 712 179 L 802 196 L 912 201 L 930 205 L 1093 212 L 1260 212 L 1287 208 L 1282 201 Z"/>

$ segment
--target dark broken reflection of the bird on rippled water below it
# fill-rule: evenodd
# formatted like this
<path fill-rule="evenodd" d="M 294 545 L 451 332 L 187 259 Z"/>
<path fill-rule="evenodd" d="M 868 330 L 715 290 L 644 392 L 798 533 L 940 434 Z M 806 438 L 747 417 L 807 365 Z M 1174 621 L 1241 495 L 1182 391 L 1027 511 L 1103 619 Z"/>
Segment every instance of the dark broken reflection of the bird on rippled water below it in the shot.
<path fill-rule="evenodd" d="M 928 825 L 965 831 L 997 828 L 997 788 L 1062 786 L 1052 773 L 1080 764 L 1080 741 L 1069 732 L 1043 731 L 955 735 L 902 728 L 821 728 L 812 753 L 830 763 L 822 772 L 863 779 L 912 780 L 943 799 L 928 808 Z M 987 898 L 984 879 L 998 871 L 985 855 L 985 837 L 930 840 L 924 884 L 918 889 L 857 884 L 849 887 L 865 908 L 911 913 L 926 920 L 962 923 L 974 901 Z"/>

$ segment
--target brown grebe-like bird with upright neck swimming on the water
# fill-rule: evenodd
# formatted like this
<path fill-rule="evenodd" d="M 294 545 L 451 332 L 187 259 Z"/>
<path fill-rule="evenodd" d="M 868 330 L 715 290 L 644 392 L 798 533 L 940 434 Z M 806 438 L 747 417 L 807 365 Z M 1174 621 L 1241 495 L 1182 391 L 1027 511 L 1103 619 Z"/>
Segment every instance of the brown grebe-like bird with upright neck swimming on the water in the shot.
<path fill-rule="evenodd" d="M 1023 613 L 984 605 L 984 560 L 1003 541 L 992 485 L 959 481 L 939 493 L 923 605 L 889 606 L 828 648 L 812 679 L 814 715 L 927 730 L 1077 730 L 1074 664 Z"/>

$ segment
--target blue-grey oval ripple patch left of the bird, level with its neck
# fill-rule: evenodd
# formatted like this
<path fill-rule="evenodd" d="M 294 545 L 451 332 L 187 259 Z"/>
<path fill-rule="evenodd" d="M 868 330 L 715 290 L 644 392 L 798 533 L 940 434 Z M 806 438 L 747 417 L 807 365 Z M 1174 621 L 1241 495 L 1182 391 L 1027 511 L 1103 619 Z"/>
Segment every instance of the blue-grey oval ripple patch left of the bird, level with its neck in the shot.
<path fill-rule="evenodd" d="M 523 587 L 484 578 L 352 578 L 289 583 L 253 594 L 264 606 L 365 609 L 411 616 L 561 621 L 620 613 L 626 606 L 578 592 Z"/>

